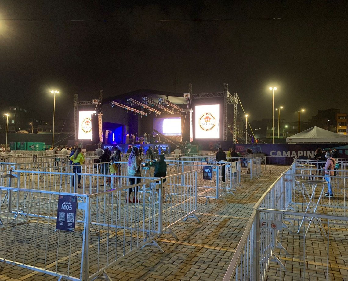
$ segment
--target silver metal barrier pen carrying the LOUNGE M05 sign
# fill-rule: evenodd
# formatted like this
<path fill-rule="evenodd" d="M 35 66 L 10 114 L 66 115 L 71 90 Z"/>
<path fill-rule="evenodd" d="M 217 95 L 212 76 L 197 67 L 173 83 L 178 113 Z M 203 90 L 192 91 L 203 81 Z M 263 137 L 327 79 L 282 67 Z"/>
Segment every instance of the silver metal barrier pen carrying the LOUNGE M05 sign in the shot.
<path fill-rule="evenodd" d="M 11 173 L 18 177 L 0 187 L 0 261 L 60 279 L 87 281 L 99 275 L 107 279 L 105 270 L 122 257 L 146 245 L 163 251 L 156 241 L 160 235 L 175 236 L 176 223 L 198 220 L 196 171 L 145 179 L 139 184 L 139 203 L 127 200 L 127 189 L 136 185 L 113 186 L 118 176 L 99 175 L 114 188 L 84 194 L 89 192 L 89 174 L 80 174 L 85 184 L 79 193 L 66 193 L 21 188 L 20 174 L 25 171 Z M 75 232 L 56 231 L 60 195 L 77 198 Z"/>

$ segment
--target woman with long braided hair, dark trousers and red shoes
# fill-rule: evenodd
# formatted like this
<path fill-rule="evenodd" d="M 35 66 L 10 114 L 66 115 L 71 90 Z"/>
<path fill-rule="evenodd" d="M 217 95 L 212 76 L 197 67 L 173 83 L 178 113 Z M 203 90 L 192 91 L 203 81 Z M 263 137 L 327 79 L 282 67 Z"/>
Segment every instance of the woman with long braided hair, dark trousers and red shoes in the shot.
<path fill-rule="evenodd" d="M 140 165 L 143 161 L 143 158 L 139 157 L 139 149 L 137 147 L 133 147 L 130 152 L 128 158 L 128 176 L 129 177 L 141 177 Z M 129 178 L 129 185 L 135 185 L 135 181 L 137 184 L 140 183 L 141 179 L 139 178 Z M 133 201 L 130 200 L 130 194 L 132 193 L 132 188 L 128 188 L 128 203 L 139 203 L 140 201 L 136 198 L 136 194 L 139 186 L 134 187 L 134 197 Z"/>

